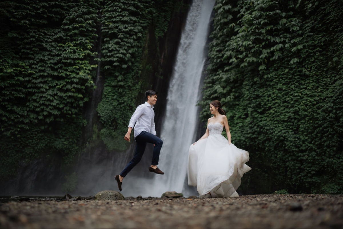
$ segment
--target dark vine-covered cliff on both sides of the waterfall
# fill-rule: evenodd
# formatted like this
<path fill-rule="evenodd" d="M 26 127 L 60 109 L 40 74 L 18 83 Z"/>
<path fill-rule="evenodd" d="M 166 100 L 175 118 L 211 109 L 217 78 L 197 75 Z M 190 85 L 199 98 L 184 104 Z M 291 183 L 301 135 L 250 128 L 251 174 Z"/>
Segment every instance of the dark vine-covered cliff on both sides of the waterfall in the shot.
<path fill-rule="evenodd" d="M 40 163 L 63 170 L 72 191 L 80 155 L 125 151 L 143 93 L 168 86 L 190 2 L 0 2 L 0 180 Z M 343 193 L 341 8 L 216 0 L 201 121 L 220 100 L 232 142 L 250 155 L 241 192 Z"/>

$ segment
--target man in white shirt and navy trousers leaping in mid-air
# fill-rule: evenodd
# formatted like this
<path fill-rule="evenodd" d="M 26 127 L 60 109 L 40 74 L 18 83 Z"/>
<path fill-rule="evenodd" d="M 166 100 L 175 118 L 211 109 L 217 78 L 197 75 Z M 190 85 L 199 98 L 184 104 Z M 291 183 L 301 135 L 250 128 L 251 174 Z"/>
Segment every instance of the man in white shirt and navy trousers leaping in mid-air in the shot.
<path fill-rule="evenodd" d="M 155 112 L 153 110 L 153 105 L 155 105 L 157 101 L 157 92 L 154 90 L 147 90 L 145 92 L 145 98 L 146 102 L 139 105 L 131 116 L 129 129 L 124 137 L 125 140 L 130 141 L 131 130 L 134 126 L 134 138 L 136 140 L 136 150 L 134 156 L 126 165 L 125 169 L 120 173 L 120 175 L 115 176 L 120 191 L 121 184 L 125 176 L 141 160 L 147 142 L 154 144 L 152 162 L 149 167 L 149 171 L 157 174 L 164 174 L 164 172 L 159 170 L 156 166 L 158 164 L 159 151 L 161 150 L 163 144 L 161 138 L 156 136 L 155 131 Z M 135 123 L 136 125 L 134 125 Z"/>

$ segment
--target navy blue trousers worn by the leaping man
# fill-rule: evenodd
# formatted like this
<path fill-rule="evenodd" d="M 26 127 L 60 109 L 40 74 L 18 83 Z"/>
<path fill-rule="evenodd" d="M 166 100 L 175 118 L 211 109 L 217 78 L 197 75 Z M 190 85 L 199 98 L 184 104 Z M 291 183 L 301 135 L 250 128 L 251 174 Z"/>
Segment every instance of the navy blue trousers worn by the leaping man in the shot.
<path fill-rule="evenodd" d="M 134 156 L 129 161 L 129 163 L 126 165 L 125 169 L 120 173 L 122 177 L 125 177 L 133 167 L 135 167 L 138 162 L 141 161 L 146 143 L 152 143 L 155 144 L 154 151 L 152 154 L 152 165 L 157 165 L 158 164 L 158 159 L 159 159 L 159 151 L 161 151 L 163 141 L 161 138 L 146 132 L 142 131 L 137 137 L 136 137 L 136 150 L 134 152 Z"/>

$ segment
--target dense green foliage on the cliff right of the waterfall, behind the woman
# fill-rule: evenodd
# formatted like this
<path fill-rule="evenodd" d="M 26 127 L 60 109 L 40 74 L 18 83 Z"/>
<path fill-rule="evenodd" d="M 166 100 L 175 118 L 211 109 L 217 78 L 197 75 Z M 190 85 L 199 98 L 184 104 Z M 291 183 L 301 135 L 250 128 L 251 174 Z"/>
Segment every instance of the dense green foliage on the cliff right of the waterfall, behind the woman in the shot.
<path fill-rule="evenodd" d="M 201 117 L 222 102 L 250 154 L 244 191 L 342 194 L 341 1 L 217 0 L 215 11 Z"/>

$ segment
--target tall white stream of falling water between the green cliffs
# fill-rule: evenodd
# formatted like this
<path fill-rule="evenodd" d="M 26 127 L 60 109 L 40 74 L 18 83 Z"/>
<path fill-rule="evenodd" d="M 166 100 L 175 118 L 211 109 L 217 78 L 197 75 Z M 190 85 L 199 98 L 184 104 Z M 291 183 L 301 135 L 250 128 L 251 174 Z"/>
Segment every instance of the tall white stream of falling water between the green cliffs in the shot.
<path fill-rule="evenodd" d="M 125 196 L 160 197 L 166 191 L 184 192 L 187 177 L 188 148 L 194 142 L 198 123 L 200 81 L 207 54 L 206 41 L 215 0 L 193 0 L 185 30 L 182 32 L 178 54 L 168 89 L 167 110 L 162 125 L 163 147 L 158 167 L 165 175 L 154 179 L 139 178 L 128 184 Z M 158 100 L 157 100 L 158 103 Z M 155 117 L 156 118 L 156 117 Z"/>

